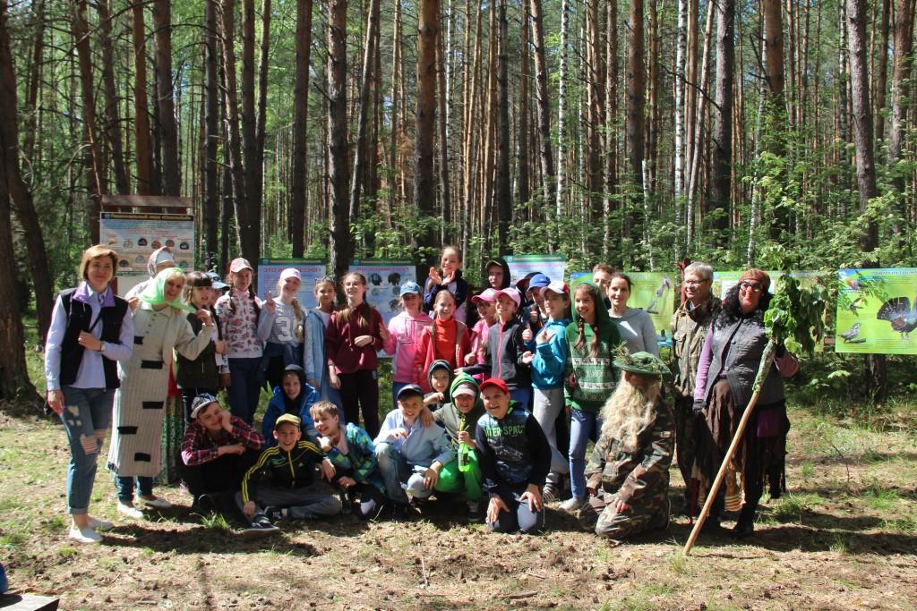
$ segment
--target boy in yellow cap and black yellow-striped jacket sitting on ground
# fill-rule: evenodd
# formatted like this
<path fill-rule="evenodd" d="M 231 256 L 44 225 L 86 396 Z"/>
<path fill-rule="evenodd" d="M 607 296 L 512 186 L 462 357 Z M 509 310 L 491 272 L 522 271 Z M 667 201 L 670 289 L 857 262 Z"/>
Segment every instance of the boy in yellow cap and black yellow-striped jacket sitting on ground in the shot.
<path fill-rule="evenodd" d="M 334 476 L 335 468 L 315 443 L 301 441 L 299 418 L 283 414 L 274 424 L 273 435 L 277 445 L 261 453 L 242 477 L 242 489 L 236 495 L 239 508 L 251 523 L 243 533 L 247 537 L 276 532 L 272 520 L 325 518 L 341 510 L 337 496 L 316 486 L 316 465 L 321 464 L 327 480 Z M 262 477 L 268 483 L 259 486 Z"/>

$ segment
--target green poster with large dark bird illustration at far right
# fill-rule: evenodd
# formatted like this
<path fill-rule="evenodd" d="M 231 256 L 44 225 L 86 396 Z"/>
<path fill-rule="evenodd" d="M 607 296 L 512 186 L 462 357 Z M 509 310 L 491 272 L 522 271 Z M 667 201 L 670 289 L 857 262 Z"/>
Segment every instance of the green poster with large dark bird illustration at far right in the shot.
<path fill-rule="evenodd" d="M 917 355 L 917 268 L 840 269 L 834 351 Z"/>

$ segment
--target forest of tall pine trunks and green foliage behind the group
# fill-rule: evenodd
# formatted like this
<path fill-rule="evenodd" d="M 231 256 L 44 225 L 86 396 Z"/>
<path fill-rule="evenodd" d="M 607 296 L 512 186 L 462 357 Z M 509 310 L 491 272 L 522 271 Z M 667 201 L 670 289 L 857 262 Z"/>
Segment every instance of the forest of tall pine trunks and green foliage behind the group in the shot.
<path fill-rule="evenodd" d="M 472 280 L 546 251 L 914 266 L 913 20 L 914 0 L 0 0 L 0 335 L 24 345 L 34 307 L 40 344 L 105 194 L 192 198 L 219 270 L 444 244 Z M 4 353 L 4 396 L 28 394 Z M 885 367 L 867 358 L 876 396 Z"/>

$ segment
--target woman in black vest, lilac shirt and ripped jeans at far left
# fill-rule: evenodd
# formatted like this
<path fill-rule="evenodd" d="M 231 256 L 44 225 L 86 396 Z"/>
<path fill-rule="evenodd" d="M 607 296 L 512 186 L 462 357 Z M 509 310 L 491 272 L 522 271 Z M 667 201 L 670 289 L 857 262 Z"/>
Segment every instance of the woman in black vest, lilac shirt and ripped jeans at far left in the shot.
<path fill-rule="evenodd" d="M 61 417 L 70 441 L 70 538 L 81 543 L 99 542 L 96 531 L 112 527 L 111 522 L 89 516 L 89 499 L 118 387 L 116 361 L 127 360 L 134 349 L 127 301 L 109 286 L 117 261 L 115 251 L 103 245 L 83 253 L 83 281 L 58 295 L 45 344 L 48 405 Z"/>

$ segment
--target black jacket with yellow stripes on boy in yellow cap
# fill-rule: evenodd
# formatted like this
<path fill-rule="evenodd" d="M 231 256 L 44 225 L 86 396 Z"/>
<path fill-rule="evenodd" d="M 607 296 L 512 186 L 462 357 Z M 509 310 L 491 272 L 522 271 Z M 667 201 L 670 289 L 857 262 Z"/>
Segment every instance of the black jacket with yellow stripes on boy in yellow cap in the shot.
<path fill-rule="evenodd" d="M 274 488 L 304 488 L 315 482 L 315 467 L 321 464 L 325 454 L 315 443 L 300 440 L 290 452 L 284 452 L 279 445 L 261 452 L 258 462 L 242 477 L 242 502 L 258 497 L 258 484 L 262 478 Z"/>

